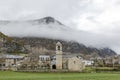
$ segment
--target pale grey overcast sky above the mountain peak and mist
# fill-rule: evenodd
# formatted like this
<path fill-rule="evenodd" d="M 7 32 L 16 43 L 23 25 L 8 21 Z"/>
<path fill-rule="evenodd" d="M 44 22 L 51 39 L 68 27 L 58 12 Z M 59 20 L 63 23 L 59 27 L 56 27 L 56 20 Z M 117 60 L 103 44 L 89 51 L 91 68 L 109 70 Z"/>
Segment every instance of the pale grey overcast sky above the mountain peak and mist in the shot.
<path fill-rule="evenodd" d="M 99 34 L 120 53 L 120 0 L 0 0 L 0 20 L 52 16 L 72 28 Z M 108 39 L 106 39 L 107 36 Z"/>

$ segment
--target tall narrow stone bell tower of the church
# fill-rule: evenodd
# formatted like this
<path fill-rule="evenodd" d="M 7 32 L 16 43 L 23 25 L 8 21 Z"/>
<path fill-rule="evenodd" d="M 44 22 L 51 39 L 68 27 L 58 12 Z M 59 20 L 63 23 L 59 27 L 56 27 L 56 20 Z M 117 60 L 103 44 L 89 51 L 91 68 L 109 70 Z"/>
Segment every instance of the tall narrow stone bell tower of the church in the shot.
<path fill-rule="evenodd" d="M 56 69 L 62 69 L 62 44 L 60 42 L 56 44 Z"/>

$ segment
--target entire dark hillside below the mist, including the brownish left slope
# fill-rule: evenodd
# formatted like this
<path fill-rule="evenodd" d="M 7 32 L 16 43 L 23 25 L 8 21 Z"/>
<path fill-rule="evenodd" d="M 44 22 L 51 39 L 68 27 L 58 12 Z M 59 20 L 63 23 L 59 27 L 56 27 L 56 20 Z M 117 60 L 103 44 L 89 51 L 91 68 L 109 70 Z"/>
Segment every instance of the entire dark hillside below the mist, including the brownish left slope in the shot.
<path fill-rule="evenodd" d="M 1 51 L 12 54 L 27 53 L 28 50 L 24 47 L 25 45 L 30 45 L 33 48 L 44 48 L 46 50 L 55 51 L 55 45 L 58 41 L 62 43 L 63 52 L 66 53 L 79 54 L 89 57 L 105 57 L 116 55 L 116 53 L 109 48 L 97 49 L 93 47 L 86 47 L 85 45 L 79 44 L 75 41 L 63 41 L 35 37 L 11 38 L 0 32 Z"/>

